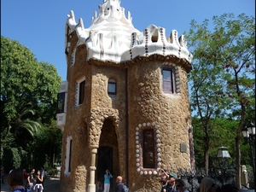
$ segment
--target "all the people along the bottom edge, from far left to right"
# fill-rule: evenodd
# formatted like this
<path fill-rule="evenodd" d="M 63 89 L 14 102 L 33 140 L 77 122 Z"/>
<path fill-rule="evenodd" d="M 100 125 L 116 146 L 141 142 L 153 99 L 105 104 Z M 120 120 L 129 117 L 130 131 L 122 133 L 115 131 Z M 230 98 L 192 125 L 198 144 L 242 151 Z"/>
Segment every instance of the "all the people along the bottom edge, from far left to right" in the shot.
<path fill-rule="evenodd" d="M 1 166 L 1 182 L 3 183 L 4 177 L 3 166 Z M 41 170 L 35 173 L 35 169 L 32 169 L 30 173 L 26 173 L 26 169 L 22 171 L 20 169 L 13 169 L 9 172 L 7 182 L 10 189 L 14 192 L 43 192 L 44 179 L 46 177 L 44 166 Z M 104 175 L 104 192 L 109 192 L 110 178 L 112 174 L 106 170 Z M 160 192 L 189 192 L 189 183 L 181 178 L 177 178 L 177 174 L 170 172 L 168 169 L 160 169 Z M 124 192 L 126 189 L 121 176 L 116 177 L 115 192 Z M 238 192 L 236 187 L 225 184 L 218 187 L 215 181 L 211 177 L 204 177 L 201 180 L 200 188 L 197 192 Z M 96 182 L 96 192 L 102 192 L 102 183 L 98 180 Z"/>

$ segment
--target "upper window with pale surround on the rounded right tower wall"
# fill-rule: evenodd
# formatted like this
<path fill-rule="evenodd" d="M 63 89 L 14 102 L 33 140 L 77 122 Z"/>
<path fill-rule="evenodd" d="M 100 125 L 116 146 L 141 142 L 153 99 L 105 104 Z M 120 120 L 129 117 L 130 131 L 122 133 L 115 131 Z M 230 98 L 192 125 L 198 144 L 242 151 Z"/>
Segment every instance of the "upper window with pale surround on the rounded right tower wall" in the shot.
<path fill-rule="evenodd" d="M 172 68 L 162 69 L 162 79 L 163 79 L 163 91 L 165 93 L 175 93 L 175 74 Z"/>

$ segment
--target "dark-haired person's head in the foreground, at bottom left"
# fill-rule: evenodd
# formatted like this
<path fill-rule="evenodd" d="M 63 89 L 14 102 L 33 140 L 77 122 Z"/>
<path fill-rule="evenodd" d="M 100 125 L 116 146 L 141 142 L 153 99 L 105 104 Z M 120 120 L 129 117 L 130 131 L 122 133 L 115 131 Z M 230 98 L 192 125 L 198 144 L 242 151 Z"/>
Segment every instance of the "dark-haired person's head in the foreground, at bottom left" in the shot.
<path fill-rule="evenodd" d="M 23 175 L 20 169 L 13 169 L 9 172 L 7 183 L 13 192 L 31 192 L 30 189 L 24 188 Z"/>

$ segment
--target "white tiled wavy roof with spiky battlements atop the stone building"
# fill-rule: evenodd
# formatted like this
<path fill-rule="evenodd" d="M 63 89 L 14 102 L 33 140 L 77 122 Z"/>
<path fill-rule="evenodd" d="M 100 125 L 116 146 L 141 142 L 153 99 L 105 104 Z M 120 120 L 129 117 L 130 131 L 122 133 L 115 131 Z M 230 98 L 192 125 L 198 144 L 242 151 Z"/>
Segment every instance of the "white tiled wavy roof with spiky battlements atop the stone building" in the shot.
<path fill-rule="evenodd" d="M 166 37 L 166 29 L 154 25 L 139 32 L 131 23 L 131 14 L 125 17 L 125 9 L 119 0 L 103 0 L 99 5 L 100 13 L 92 17 L 92 24 L 84 29 L 82 19 L 77 23 L 73 11 L 67 15 L 66 34 L 76 31 L 79 38 L 77 46 L 85 44 L 87 60 L 92 58 L 102 61 L 131 61 L 140 56 L 176 55 L 192 61 L 192 54 L 187 49 L 183 35 L 177 38 L 177 31 L 172 30 Z M 66 48 L 69 43 L 66 38 Z M 75 51 L 75 50 L 74 50 Z"/>

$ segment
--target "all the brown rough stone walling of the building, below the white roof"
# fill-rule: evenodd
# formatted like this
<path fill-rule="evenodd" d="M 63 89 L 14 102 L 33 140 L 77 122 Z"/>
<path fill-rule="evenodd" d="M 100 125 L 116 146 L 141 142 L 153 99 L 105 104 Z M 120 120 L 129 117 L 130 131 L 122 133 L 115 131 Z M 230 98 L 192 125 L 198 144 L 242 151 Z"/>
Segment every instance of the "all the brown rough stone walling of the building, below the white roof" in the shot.
<path fill-rule="evenodd" d="M 182 62 L 175 64 L 179 61 L 175 57 L 168 61 L 163 57 L 162 59 L 142 58 L 125 63 L 124 67 L 122 64 L 107 65 L 109 61 L 106 61 L 106 65 L 100 61 L 88 63 L 84 45 L 76 49 L 75 63 L 72 65 L 72 53 L 78 38 L 75 34 L 70 35 L 69 38 L 72 44 L 67 55 L 67 120 L 63 132 L 61 191 L 87 191 L 91 166 L 90 151 L 91 148 L 100 146 L 113 147 L 115 157 L 113 158 L 113 177 L 123 176 L 131 192 L 159 191 L 159 177 L 137 171 L 137 127 L 142 125 L 143 128 L 143 124 L 148 126 L 148 123 L 154 129 L 155 126 L 158 127 L 161 168 L 169 168 L 172 172 L 177 172 L 178 167 L 189 168 L 191 122 L 188 67 L 183 66 Z M 167 95 L 161 88 L 160 68 L 170 63 L 177 66 L 179 78 L 180 92 L 175 95 Z M 75 107 L 75 83 L 83 77 L 85 77 L 84 102 Z M 108 96 L 108 79 L 115 79 L 117 82 L 116 96 Z M 127 98 L 126 85 L 128 86 Z M 113 127 L 118 145 L 114 144 L 116 142 L 109 141 L 108 137 L 102 136 L 102 134 L 107 135 L 102 131 L 106 119 L 113 122 L 113 126 L 108 125 L 108 127 Z M 126 135 L 126 127 L 128 127 L 128 135 Z M 67 137 L 70 135 L 73 137 L 72 172 L 70 176 L 66 176 L 64 162 L 67 155 Z M 126 136 L 128 143 L 126 143 Z M 185 153 L 180 152 L 181 143 L 187 146 Z M 144 171 L 154 172 L 155 169 Z"/>

